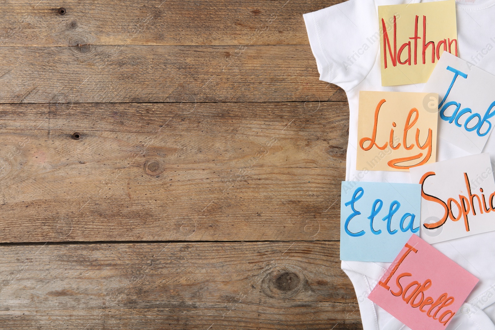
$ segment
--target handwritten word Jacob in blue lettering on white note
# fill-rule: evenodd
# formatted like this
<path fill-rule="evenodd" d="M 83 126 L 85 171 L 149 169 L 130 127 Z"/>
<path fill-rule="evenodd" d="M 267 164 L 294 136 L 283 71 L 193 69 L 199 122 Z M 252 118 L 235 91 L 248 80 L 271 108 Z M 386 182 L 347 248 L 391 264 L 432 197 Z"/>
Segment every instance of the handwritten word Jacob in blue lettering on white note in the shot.
<path fill-rule="evenodd" d="M 487 111 L 483 115 L 483 118 L 481 117 L 481 115 L 479 113 L 473 112 L 473 110 L 471 110 L 470 108 L 466 107 L 466 108 L 461 109 L 461 103 L 459 103 L 459 102 L 450 101 L 450 102 L 447 102 L 444 104 L 444 101 L 447 99 L 448 94 L 450 94 L 450 91 L 452 90 L 452 87 L 454 86 L 454 83 L 457 80 L 457 77 L 461 76 L 462 78 L 467 79 L 467 74 L 465 74 L 462 71 L 454 69 L 450 66 L 447 66 L 447 70 L 452 71 L 454 73 L 454 78 L 452 79 L 452 82 L 450 83 L 450 86 L 448 87 L 448 90 L 447 90 L 447 93 L 445 94 L 444 99 L 438 105 L 438 108 L 440 110 L 440 118 L 442 120 L 448 121 L 450 124 L 454 123 L 454 125 L 457 127 L 464 126 L 464 129 L 468 132 L 472 132 L 472 131 L 476 130 L 476 134 L 479 137 L 486 136 L 490 132 L 490 130 L 492 129 L 492 123 L 489 121 L 489 119 L 492 118 L 493 116 L 495 116 L 495 110 L 492 111 L 492 109 L 495 107 L 495 101 L 492 102 L 492 104 L 490 104 Z M 447 116 L 445 114 L 445 111 L 450 106 L 455 106 L 455 110 L 450 116 Z M 459 119 L 464 115 L 467 116 L 468 114 L 471 114 L 471 115 L 469 115 L 467 118 L 465 118 L 465 120 L 463 120 L 464 125 L 459 123 Z M 475 118 L 477 118 L 476 124 L 474 124 L 474 125 L 470 124 L 471 121 L 473 121 L 473 119 L 475 119 Z M 488 124 L 488 127 L 482 133 L 481 129 L 485 124 Z M 471 127 L 468 127 L 468 126 L 471 126 Z"/>

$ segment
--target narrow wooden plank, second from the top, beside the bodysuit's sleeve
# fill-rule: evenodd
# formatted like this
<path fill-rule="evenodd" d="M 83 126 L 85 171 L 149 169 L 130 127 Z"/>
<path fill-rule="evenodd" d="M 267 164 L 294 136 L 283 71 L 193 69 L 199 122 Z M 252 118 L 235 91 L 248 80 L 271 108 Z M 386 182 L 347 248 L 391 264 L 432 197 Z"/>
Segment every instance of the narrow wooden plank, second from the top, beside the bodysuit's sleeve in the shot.
<path fill-rule="evenodd" d="M 307 45 L 0 47 L 0 103 L 346 101 Z"/>

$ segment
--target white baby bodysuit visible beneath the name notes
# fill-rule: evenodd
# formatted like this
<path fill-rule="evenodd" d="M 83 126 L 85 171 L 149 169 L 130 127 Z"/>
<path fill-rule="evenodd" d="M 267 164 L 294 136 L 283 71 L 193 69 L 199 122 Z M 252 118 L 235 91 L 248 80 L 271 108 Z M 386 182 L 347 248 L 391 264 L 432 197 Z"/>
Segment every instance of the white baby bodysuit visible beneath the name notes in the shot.
<path fill-rule="evenodd" d="M 408 172 L 357 171 L 357 114 L 359 91 L 422 92 L 424 84 L 382 87 L 380 68 L 379 5 L 430 2 L 419 0 L 348 0 L 304 14 L 311 49 L 320 80 L 338 85 L 349 101 L 347 181 L 410 183 Z M 495 75 L 495 0 L 457 0 L 459 57 Z M 483 152 L 495 164 L 495 134 Z M 468 153 L 442 139 L 437 143 L 437 161 Z M 495 232 L 433 244 L 464 269 L 480 279 L 467 302 L 447 330 L 495 330 Z M 356 290 L 364 330 L 406 330 L 368 294 L 390 263 L 342 261 Z"/>

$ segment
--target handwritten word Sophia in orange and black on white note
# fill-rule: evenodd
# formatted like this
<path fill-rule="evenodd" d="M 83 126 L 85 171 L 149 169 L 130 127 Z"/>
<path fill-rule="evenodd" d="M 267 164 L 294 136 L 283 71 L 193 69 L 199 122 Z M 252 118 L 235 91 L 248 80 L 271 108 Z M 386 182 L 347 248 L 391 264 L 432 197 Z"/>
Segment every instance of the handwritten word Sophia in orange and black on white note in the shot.
<path fill-rule="evenodd" d="M 488 198 L 489 204 L 487 206 L 487 199 L 485 197 L 485 194 L 483 193 L 483 188 L 480 188 L 481 198 L 479 195 L 471 192 L 471 185 L 469 184 L 469 178 L 467 176 L 467 173 L 464 173 L 464 182 L 466 184 L 468 196 L 459 194 L 459 201 L 457 201 L 457 199 L 455 198 L 450 197 L 445 202 L 438 197 L 426 193 L 423 189 L 424 183 L 426 179 L 434 175 L 436 175 L 435 172 L 427 172 L 423 175 L 423 177 L 421 177 L 421 180 L 419 182 L 419 184 L 421 185 L 421 197 L 423 197 L 426 200 L 440 204 L 444 208 L 445 213 L 439 221 L 432 224 L 423 224 L 423 226 L 426 229 L 437 229 L 439 227 L 442 227 L 446 223 L 447 218 L 450 218 L 450 220 L 452 221 L 458 221 L 461 218 L 463 218 L 464 225 L 466 227 L 466 232 L 469 232 L 468 214 L 470 211 L 473 213 L 473 216 L 477 214 L 476 209 L 480 211 L 480 214 L 483 214 L 484 212 L 489 213 L 495 211 L 495 205 L 494 205 L 495 191 L 490 194 L 490 197 Z M 475 207 L 475 200 L 477 202 L 476 204 L 478 207 Z M 457 208 L 456 210 L 457 215 L 454 215 L 454 210 L 452 209 L 452 203 Z"/>

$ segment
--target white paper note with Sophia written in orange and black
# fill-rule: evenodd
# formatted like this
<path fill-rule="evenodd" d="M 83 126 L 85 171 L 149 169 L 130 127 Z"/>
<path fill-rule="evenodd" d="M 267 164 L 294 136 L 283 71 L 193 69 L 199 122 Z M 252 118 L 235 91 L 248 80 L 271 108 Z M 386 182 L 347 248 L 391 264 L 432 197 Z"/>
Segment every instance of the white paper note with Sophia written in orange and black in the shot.
<path fill-rule="evenodd" d="M 422 185 L 420 236 L 428 243 L 495 231 L 495 182 L 481 153 L 411 169 Z"/>

